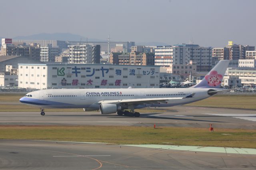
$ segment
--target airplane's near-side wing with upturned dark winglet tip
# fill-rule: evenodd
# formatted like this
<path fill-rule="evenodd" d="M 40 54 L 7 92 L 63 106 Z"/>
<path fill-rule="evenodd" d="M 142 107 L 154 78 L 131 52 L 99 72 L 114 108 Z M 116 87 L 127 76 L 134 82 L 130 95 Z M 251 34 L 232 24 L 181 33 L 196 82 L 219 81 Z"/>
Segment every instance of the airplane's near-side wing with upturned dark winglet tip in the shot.
<path fill-rule="evenodd" d="M 127 103 L 128 105 L 136 104 L 136 105 L 146 105 L 146 104 L 160 104 L 167 103 L 168 100 L 177 100 L 177 99 L 186 99 L 194 96 L 195 93 L 191 93 L 186 97 L 161 97 L 161 98 L 143 98 L 143 99 L 120 99 L 120 100 L 102 100 L 98 101 L 94 104 L 103 104 L 103 103 L 111 103 L 111 104 L 122 104 Z"/>

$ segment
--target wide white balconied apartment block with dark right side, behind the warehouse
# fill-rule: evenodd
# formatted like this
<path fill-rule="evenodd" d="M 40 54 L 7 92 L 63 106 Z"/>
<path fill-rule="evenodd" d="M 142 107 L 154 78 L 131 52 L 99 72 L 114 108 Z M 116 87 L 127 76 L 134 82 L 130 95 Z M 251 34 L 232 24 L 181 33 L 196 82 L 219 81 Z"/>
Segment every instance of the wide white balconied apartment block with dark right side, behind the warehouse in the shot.
<path fill-rule="evenodd" d="M 100 45 L 68 45 L 68 63 L 100 63 Z"/>

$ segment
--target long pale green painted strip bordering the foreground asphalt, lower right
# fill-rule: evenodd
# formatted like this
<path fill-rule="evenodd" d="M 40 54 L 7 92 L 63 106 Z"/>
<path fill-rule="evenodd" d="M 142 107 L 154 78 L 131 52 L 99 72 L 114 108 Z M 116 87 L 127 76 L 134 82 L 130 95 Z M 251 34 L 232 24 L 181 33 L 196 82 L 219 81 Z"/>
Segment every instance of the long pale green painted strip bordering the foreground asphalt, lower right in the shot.
<path fill-rule="evenodd" d="M 253 148 L 227 148 L 227 147 L 204 147 L 204 146 L 176 146 L 162 144 L 126 144 L 124 146 L 137 146 L 155 149 L 184 150 L 194 152 L 217 152 L 228 154 L 252 154 L 256 155 L 256 149 Z"/>

